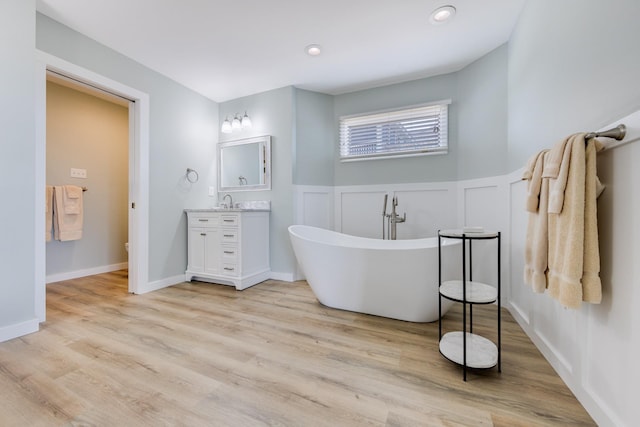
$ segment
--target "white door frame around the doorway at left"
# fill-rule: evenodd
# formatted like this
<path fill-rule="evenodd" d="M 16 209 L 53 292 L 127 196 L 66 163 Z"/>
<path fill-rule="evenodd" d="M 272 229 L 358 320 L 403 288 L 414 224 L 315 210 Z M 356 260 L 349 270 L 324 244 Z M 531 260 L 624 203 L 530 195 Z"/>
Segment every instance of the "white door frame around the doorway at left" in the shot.
<path fill-rule="evenodd" d="M 46 187 L 47 70 L 131 100 L 129 103 L 129 292 L 144 292 L 149 277 L 149 95 L 36 49 L 35 152 L 35 307 L 46 319 L 46 249 L 44 241 Z M 135 207 L 134 207 L 135 206 Z"/>

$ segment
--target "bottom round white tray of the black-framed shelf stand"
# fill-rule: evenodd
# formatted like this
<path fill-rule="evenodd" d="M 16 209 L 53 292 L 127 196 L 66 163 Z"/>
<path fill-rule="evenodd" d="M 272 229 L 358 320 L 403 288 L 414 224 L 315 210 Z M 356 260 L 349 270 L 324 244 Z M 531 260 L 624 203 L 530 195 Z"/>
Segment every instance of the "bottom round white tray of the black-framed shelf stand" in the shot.
<path fill-rule="evenodd" d="M 448 332 L 440 340 L 440 353 L 458 365 L 464 365 L 462 332 Z M 498 364 L 498 347 L 480 335 L 467 332 L 467 367 L 486 369 Z"/>

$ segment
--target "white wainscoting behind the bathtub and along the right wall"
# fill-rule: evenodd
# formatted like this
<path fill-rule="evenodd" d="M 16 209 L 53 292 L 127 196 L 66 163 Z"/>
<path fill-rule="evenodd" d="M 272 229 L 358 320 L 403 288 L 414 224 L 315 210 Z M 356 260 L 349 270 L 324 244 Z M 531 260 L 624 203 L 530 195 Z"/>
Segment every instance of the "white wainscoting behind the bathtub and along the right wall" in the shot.
<path fill-rule="evenodd" d="M 600 425 L 629 426 L 640 419 L 632 401 L 640 383 L 640 114 L 621 120 L 629 133 L 598 154 L 598 174 L 606 185 L 598 199 L 603 301 L 579 310 L 563 308 L 524 285 L 527 213 L 522 170 L 460 182 L 342 187 L 298 187 L 299 223 L 380 238 L 384 194 L 399 199 L 399 238 L 435 236 L 438 228 L 481 225 L 503 233 L 503 306 Z M 618 124 L 614 123 L 613 125 Z M 609 128 L 611 126 L 607 126 Z M 611 149 L 615 147 L 615 149 Z M 333 195 L 333 199 L 332 199 Z M 332 206 L 333 203 L 333 206 Z M 333 227 L 331 214 L 333 212 Z M 480 253 L 490 251 L 476 251 Z M 474 278 L 492 282 L 477 269 L 491 260 L 474 259 Z M 476 276 L 477 275 L 477 276 Z M 302 277 L 302 276 L 300 276 Z M 505 358 L 509 355 L 505 354 Z"/>

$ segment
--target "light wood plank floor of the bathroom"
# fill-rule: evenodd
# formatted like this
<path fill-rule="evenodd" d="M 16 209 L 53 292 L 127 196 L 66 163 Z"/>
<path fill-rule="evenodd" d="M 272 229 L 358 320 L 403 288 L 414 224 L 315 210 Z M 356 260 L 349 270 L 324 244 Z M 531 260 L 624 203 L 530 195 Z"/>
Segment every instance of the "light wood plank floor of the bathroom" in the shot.
<path fill-rule="evenodd" d="M 0 425 L 593 425 L 506 311 L 502 373 L 465 383 L 437 322 L 333 310 L 306 282 L 129 295 L 126 280 L 47 287 L 41 331 L 0 343 Z M 495 307 L 474 318 L 492 337 Z"/>

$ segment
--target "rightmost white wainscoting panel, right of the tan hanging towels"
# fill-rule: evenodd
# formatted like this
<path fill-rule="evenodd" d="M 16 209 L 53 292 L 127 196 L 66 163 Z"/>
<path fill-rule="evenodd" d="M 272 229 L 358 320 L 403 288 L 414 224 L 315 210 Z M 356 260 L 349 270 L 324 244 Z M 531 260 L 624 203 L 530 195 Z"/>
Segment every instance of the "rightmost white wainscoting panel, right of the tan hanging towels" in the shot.
<path fill-rule="evenodd" d="M 640 130 L 625 122 L 629 137 Z M 598 199 L 603 297 L 586 312 L 582 362 L 587 394 L 611 415 L 612 424 L 628 426 L 640 420 L 639 161 L 637 143 L 598 154 L 598 175 L 606 186 Z"/>

